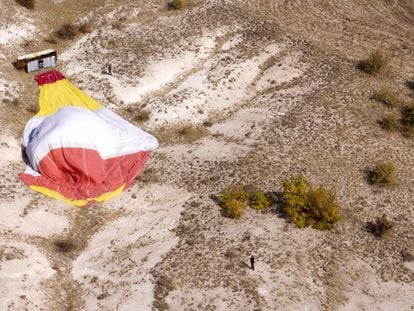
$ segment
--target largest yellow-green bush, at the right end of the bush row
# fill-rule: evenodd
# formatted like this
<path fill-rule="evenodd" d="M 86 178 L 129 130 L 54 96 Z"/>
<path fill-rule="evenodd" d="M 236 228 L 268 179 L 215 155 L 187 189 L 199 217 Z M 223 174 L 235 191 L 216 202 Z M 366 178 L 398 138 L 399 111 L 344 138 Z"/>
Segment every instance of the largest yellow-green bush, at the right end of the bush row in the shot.
<path fill-rule="evenodd" d="M 303 176 L 286 179 L 283 187 L 283 211 L 299 228 L 330 229 L 340 219 L 335 194 L 323 186 L 314 188 Z"/>

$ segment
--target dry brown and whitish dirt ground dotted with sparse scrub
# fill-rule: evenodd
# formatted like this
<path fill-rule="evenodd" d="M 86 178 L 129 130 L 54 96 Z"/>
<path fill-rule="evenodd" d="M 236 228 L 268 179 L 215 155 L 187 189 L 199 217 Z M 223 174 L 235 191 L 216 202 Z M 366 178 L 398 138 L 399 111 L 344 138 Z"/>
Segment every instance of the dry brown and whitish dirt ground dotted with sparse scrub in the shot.
<path fill-rule="evenodd" d="M 371 99 L 387 87 L 414 101 L 414 3 L 188 2 L 0 3 L 0 310 L 414 310 L 414 140 L 381 129 L 400 107 Z M 65 22 L 91 31 L 53 43 Z M 18 179 L 38 90 L 12 62 L 46 48 L 160 141 L 113 200 L 68 206 Z M 376 49 L 384 70 L 358 70 Z M 380 160 L 396 187 L 367 183 Z M 277 193 L 299 174 L 335 190 L 332 230 L 298 229 L 276 203 L 233 220 L 215 200 L 236 183 Z M 363 228 L 382 214 L 394 227 L 376 238 Z"/>

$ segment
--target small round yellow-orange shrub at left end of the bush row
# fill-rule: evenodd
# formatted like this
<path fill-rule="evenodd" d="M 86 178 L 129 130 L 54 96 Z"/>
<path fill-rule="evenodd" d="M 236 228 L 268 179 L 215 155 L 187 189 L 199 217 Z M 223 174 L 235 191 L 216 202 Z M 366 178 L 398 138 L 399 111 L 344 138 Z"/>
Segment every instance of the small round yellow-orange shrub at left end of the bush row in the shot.
<path fill-rule="evenodd" d="M 243 186 L 236 185 L 224 188 L 218 199 L 230 218 L 240 218 L 244 215 L 249 196 Z"/>

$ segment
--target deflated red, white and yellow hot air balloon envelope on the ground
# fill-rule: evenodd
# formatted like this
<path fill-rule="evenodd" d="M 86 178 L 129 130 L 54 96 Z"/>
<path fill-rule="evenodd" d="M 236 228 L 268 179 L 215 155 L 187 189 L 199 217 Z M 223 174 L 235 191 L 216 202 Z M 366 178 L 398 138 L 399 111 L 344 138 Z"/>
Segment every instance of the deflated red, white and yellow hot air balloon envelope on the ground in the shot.
<path fill-rule="evenodd" d="M 158 141 L 104 108 L 58 71 L 35 77 L 40 111 L 24 130 L 21 180 L 52 198 L 83 206 L 127 189 Z"/>

